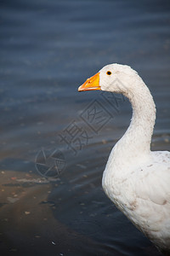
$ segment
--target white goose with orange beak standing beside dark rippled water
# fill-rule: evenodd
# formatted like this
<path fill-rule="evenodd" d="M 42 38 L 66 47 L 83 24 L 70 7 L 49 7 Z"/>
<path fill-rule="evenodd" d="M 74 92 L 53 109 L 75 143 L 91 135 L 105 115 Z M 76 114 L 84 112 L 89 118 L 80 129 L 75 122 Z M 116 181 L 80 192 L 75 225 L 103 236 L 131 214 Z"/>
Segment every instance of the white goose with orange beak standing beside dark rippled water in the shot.
<path fill-rule="evenodd" d="M 127 96 L 133 118 L 112 148 L 102 185 L 106 195 L 156 247 L 170 255 L 170 152 L 150 151 L 156 107 L 150 90 L 131 67 L 111 64 L 82 84 Z"/>

